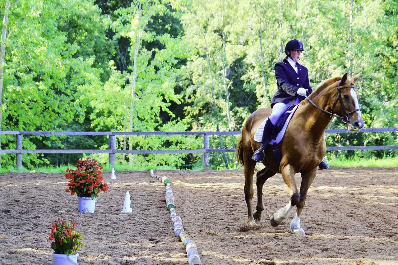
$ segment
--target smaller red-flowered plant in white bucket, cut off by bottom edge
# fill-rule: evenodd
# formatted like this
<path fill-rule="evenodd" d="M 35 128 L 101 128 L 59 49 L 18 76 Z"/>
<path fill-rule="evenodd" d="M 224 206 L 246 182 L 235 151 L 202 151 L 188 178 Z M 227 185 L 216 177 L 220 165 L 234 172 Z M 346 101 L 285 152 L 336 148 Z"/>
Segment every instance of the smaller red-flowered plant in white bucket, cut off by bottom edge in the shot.
<path fill-rule="evenodd" d="M 58 218 L 51 224 L 51 233 L 47 242 L 51 242 L 51 248 L 54 250 L 53 265 L 77 264 L 77 252 L 84 242 L 83 236 L 75 231 L 76 222 L 71 225 L 69 222 Z"/>

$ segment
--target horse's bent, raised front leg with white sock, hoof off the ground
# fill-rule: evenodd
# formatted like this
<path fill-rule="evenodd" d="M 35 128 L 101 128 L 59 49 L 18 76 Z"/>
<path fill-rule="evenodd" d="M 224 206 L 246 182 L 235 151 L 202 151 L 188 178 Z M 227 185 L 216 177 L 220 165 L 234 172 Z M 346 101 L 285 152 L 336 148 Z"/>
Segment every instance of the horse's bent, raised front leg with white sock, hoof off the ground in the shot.
<path fill-rule="evenodd" d="M 295 171 L 293 166 L 287 164 L 282 168 L 281 173 L 283 180 L 289 188 L 290 201 L 285 207 L 280 208 L 277 212 L 271 215 L 271 218 L 269 219 L 269 221 L 271 222 L 271 226 L 279 226 L 279 224 L 281 224 L 281 222 L 283 222 L 283 220 L 285 220 L 287 216 L 289 216 L 289 212 L 293 208 L 293 206 L 297 205 L 297 203 L 300 202 L 300 195 L 297 191 L 297 186 L 295 182 Z"/>

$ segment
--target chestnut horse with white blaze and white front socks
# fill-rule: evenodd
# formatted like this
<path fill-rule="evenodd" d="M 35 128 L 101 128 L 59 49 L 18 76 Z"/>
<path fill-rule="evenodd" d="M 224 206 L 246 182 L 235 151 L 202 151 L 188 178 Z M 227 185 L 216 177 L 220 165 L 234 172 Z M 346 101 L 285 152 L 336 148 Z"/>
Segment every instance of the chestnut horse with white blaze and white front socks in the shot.
<path fill-rule="evenodd" d="M 305 234 L 300 227 L 302 209 L 305 205 L 307 191 L 316 177 L 318 164 L 326 153 L 324 133 L 333 116 L 339 117 L 347 124 L 349 131 L 359 131 L 365 125 L 359 108 L 358 94 L 355 91 L 355 82 L 359 75 L 350 79 L 348 73 L 342 77 L 326 80 L 306 99 L 300 102 L 285 131 L 285 136 L 279 142 L 281 153 L 279 167 L 272 155 L 272 145 L 267 146 L 263 165 L 259 170 L 252 160 L 254 151 L 260 143 L 254 141 L 254 134 L 264 119 L 271 115 L 270 108 L 261 108 L 254 111 L 246 120 L 236 144 L 236 159 L 244 166 L 245 185 L 244 193 L 248 208 L 248 225 L 257 226 L 261 221 L 263 204 L 263 185 L 267 179 L 281 173 L 290 195 L 289 203 L 270 216 L 272 226 L 278 226 L 289 216 L 290 210 L 296 206 L 296 214 L 290 224 L 293 234 Z M 254 195 L 253 175 L 256 174 L 257 206 L 252 211 Z M 298 192 L 295 174 L 301 174 L 300 192 Z"/>

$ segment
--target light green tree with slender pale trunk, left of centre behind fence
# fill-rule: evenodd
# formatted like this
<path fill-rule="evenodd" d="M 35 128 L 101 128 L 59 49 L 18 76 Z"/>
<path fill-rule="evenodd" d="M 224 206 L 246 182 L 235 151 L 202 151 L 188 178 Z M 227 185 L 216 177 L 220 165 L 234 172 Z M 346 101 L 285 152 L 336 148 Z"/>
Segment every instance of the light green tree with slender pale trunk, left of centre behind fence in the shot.
<path fill-rule="evenodd" d="M 174 10 L 166 1 L 137 1 L 129 7 L 115 10 L 116 19 L 112 23 L 115 43 L 119 39 L 129 39 L 129 60 L 124 71 L 119 70 L 111 63 L 113 73 L 105 83 L 101 93 L 90 94 L 92 105 L 95 106 L 92 114 L 93 126 L 101 130 L 106 127 L 117 128 L 121 131 L 158 131 L 172 130 L 185 131 L 188 127 L 184 120 L 175 118 L 170 111 L 170 102 L 179 104 L 181 96 L 175 94 L 176 76 L 181 70 L 175 68 L 180 58 L 185 57 L 186 47 L 179 36 L 170 35 L 172 25 L 164 25 L 164 32 L 157 32 L 157 23 L 164 23 L 167 18 L 174 17 Z M 156 20 L 154 19 L 156 18 Z M 99 97 L 99 95 L 101 95 Z M 110 119 L 107 113 L 113 114 Z M 163 121 L 162 116 L 168 116 Z M 151 140 L 154 139 L 154 140 Z M 119 139 L 122 149 L 161 149 L 179 148 L 189 137 L 168 136 L 130 136 Z M 195 142 L 194 140 L 193 142 Z M 174 163 L 181 165 L 186 155 L 174 156 L 134 156 L 129 155 L 130 167 L 133 163 L 145 164 L 154 160 L 159 165 Z M 119 158 L 118 158 L 119 160 Z M 123 163 L 125 157 L 122 156 Z"/>

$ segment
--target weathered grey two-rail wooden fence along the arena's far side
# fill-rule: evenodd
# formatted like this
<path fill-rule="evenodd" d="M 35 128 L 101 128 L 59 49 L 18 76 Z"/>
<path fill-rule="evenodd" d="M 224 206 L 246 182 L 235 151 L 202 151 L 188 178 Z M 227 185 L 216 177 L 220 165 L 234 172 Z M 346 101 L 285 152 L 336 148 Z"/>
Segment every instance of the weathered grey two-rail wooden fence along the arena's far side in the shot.
<path fill-rule="evenodd" d="M 396 132 L 398 128 L 370 128 L 362 129 L 359 132 L 351 132 L 346 129 L 327 129 L 326 133 L 376 133 L 376 132 Z M 210 135 L 234 135 L 241 134 L 241 131 L 232 132 L 45 132 L 45 131 L 0 131 L 0 134 L 16 134 L 17 149 L 0 150 L 0 154 L 16 154 L 17 169 L 22 168 L 22 154 L 109 154 L 109 164 L 114 166 L 116 163 L 116 154 L 188 154 L 203 153 L 203 165 L 209 169 L 209 153 L 216 152 L 235 152 L 235 148 L 209 149 Z M 203 135 L 203 149 L 186 150 L 119 150 L 116 149 L 116 135 Z M 108 135 L 109 149 L 22 149 L 23 135 Z M 334 150 L 390 150 L 398 149 L 397 145 L 378 145 L 378 146 L 328 146 L 327 151 Z"/>

